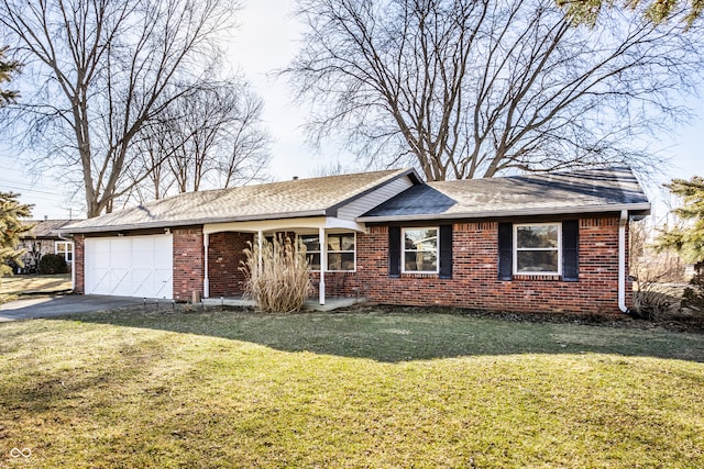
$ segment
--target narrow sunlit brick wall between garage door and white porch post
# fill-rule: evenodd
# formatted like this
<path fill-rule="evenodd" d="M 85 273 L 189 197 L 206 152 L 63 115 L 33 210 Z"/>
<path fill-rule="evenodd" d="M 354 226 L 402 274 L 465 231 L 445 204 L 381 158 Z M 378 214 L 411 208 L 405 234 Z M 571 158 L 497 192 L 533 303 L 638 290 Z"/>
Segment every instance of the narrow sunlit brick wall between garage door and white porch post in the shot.
<path fill-rule="evenodd" d="M 174 235 L 174 299 L 190 301 L 193 292 L 202 298 L 202 230 L 176 228 Z"/>

